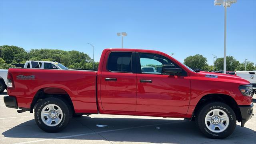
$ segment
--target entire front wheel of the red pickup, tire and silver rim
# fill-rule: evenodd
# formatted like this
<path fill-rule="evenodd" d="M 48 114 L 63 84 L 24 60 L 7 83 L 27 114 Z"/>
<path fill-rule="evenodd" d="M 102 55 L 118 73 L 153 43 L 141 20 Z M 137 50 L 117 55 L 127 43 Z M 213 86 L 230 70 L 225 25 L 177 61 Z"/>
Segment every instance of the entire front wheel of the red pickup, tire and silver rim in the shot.
<path fill-rule="evenodd" d="M 196 116 L 196 124 L 209 138 L 226 138 L 236 128 L 236 114 L 227 104 L 211 102 L 200 108 Z"/>

